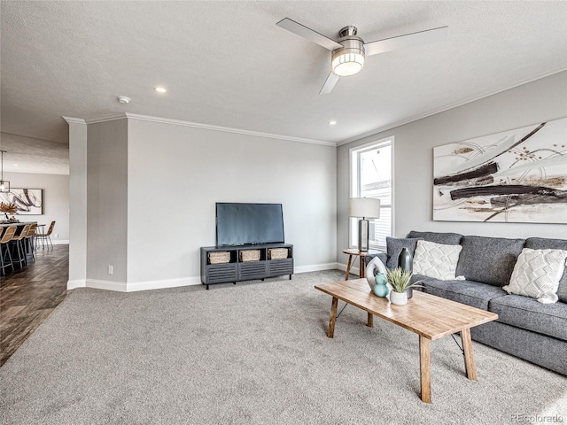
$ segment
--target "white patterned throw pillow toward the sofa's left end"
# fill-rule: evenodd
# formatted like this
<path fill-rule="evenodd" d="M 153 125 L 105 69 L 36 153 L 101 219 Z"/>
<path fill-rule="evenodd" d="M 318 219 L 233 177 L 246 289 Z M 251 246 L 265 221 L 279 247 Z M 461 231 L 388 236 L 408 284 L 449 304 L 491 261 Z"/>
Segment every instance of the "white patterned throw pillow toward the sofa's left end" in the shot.
<path fill-rule="evenodd" d="M 423 274 L 442 281 L 454 280 L 461 250 L 461 245 L 417 241 L 414 274 Z"/>

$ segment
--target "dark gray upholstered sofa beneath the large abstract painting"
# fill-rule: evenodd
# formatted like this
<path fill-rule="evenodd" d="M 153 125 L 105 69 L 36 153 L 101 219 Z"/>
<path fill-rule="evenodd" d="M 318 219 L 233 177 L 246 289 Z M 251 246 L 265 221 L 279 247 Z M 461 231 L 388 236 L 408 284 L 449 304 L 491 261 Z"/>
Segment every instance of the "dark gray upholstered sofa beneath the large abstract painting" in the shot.
<path fill-rule="evenodd" d="M 456 276 L 464 276 L 464 280 L 443 281 L 418 274 L 412 279 L 423 281 L 422 290 L 426 293 L 498 314 L 498 321 L 471 328 L 472 339 L 567 375 L 567 267 L 555 304 L 509 295 L 502 289 L 509 284 L 523 248 L 567 250 L 567 240 L 411 231 L 405 239 L 389 238 L 388 253 L 380 253 L 378 257 L 386 267 L 396 267 L 400 247 L 408 247 L 413 255 L 419 239 L 462 246 Z M 367 263 L 370 259 L 366 258 Z"/>

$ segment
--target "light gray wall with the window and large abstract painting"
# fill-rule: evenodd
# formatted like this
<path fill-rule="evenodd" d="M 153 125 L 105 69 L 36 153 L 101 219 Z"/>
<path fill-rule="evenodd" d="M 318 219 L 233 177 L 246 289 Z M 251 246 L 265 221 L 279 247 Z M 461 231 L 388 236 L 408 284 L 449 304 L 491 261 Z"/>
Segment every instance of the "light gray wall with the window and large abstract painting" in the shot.
<path fill-rule="evenodd" d="M 463 235 L 567 238 L 567 226 L 536 223 L 478 223 L 432 220 L 433 148 L 482 135 L 567 116 L 567 72 L 365 137 L 338 148 L 338 262 L 346 262 L 346 204 L 349 197 L 348 150 L 394 135 L 394 236 L 409 230 Z"/>

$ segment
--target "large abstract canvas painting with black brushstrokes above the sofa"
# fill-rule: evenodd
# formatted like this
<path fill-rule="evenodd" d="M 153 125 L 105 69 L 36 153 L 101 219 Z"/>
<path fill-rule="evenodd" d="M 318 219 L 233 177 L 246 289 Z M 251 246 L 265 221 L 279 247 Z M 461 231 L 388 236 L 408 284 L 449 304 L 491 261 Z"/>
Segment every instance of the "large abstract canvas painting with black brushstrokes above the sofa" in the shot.
<path fill-rule="evenodd" d="M 567 118 L 433 149 L 433 220 L 567 223 Z"/>

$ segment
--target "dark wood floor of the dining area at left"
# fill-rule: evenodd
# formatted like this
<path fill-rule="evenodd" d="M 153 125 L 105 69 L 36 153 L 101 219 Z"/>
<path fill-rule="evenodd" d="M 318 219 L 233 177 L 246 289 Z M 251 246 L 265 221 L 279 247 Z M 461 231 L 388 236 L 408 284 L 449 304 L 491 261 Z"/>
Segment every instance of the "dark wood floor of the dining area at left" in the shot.
<path fill-rule="evenodd" d="M 35 251 L 35 263 L 0 277 L 0 366 L 66 297 L 69 245 Z"/>

